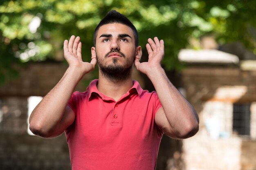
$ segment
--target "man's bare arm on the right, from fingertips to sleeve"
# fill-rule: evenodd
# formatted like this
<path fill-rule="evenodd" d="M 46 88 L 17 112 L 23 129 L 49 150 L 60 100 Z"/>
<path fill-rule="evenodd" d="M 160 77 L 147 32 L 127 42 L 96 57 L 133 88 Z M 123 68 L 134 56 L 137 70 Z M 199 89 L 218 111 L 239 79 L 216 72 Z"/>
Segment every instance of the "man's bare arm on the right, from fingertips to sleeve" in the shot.
<path fill-rule="evenodd" d="M 153 83 L 162 104 L 155 115 L 155 122 L 169 137 L 176 139 L 191 137 L 198 132 L 198 115 L 192 105 L 169 81 L 161 67 L 164 41 L 159 41 L 157 37 L 154 41 L 148 39 L 149 44 L 146 44 L 148 62 L 139 63 L 139 59 L 135 59 L 135 66 Z"/>

